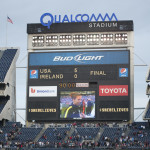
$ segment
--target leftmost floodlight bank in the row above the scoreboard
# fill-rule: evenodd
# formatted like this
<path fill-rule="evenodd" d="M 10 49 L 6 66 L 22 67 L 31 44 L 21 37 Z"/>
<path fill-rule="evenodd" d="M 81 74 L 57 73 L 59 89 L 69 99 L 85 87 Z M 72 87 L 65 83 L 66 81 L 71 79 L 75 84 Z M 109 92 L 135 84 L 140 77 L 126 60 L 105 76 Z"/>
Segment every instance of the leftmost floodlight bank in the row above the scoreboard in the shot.
<path fill-rule="evenodd" d="M 32 46 L 33 47 L 43 47 L 44 46 L 44 36 L 33 36 Z"/>

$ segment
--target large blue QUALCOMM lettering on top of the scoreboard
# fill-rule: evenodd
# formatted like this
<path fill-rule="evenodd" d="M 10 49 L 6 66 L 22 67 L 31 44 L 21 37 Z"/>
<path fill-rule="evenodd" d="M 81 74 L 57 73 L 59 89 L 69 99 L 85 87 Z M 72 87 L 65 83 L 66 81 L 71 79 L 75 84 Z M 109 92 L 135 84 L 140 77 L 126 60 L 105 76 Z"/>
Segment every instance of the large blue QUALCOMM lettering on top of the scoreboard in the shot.
<path fill-rule="evenodd" d="M 46 17 L 49 17 L 47 23 L 45 23 L 44 19 Z M 93 21 L 118 21 L 115 13 L 112 13 L 111 16 L 108 15 L 108 13 L 105 14 L 105 16 L 102 16 L 102 14 L 77 14 L 77 15 L 52 15 L 51 13 L 44 13 L 41 18 L 40 22 L 43 26 L 46 26 L 48 29 L 50 29 L 50 26 L 52 23 L 65 23 L 65 22 L 93 22 Z"/>

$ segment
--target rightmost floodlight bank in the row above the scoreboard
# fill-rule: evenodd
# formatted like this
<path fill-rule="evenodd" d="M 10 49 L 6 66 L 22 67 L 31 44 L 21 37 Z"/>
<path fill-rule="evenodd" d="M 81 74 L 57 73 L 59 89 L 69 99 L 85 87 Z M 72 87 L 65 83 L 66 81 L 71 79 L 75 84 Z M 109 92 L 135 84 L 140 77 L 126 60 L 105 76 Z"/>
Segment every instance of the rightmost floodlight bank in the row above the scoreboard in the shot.
<path fill-rule="evenodd" d="M 128 34 L 127 33 L 117 33 L 115 34 L 115 44 L 127 44 Z"/>

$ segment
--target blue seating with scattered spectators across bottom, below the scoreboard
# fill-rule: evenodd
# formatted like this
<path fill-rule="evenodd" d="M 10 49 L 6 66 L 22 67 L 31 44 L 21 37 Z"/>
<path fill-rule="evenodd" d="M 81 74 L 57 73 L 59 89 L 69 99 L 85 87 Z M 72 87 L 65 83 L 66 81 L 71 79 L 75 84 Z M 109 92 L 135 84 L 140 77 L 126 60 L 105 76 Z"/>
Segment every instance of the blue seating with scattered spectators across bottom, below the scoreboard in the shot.
<path fill-rule="evenodd" d="M 103 130 L 99 140 L 98 145 L 94 146 L 94 149 L 115 149 L 116 145 L 120 149 L 142 149 L 143 147 L 149 149 L 150 148 L 150 127 L 147 122 L 134 122 L 133 124 L 124 127 L 116 127 L 119 125 L 115 125 L 115 127 L 101 126 L 100 128 Z M 19 129 L 18 129 L 19 128 Z M 73 127 L 75 131 L 71 135 L 80 135 L 81 137 L 91 136 L 91 142 L 96 137 L 98 132 L 100 131 L 99 127 Z M 72 129 L 73 129 L 72 128 Z M 18 129 L 18 130 L 17 130 Z M 5 134 L 12 133 L 12 131 L 16 131 L 15 137 L 11 139 L 11 147 L 12 149 L 17 147 L 25 147 L 26 149 L 33 150 L 59 150 L 60 145 L 65 149 L 75 149 L 78 150 L 80 148 L 80 143 L 83 144 L 83 149 L 89 149 L 89 146 L 86 145 L 86 139 L 80 140 L 76 143 L 76 140 L 66 139 L 67 131 L 72 130 L 70 127 L 52 127 L 47 128 L 43 135 L 40 137 L 38 142 L 34 143 L 34 139 L 39 135 L 42 128 L 23 128 L 20 123 L 16 122 L 7 122 L 5 126 L 2 126 L 0 123 L 0 130 L 3 133 L 0 134 L 0 142 L 5 142 Z M 101 131 L 102 131 L 101 130 Z M 126 133 L 126 134 L 124 134 Z M 61 137 L 61 138 L 59 138 Z M 87 142 L 90 139 L 87 139 Z M 19 144 L 18 144 L 19 142 Z M 28 144 L 24 144 L 24 143 Z M 17 143 L 17 144 L 16 144 Z M 43 143 L 42 146 L 39 143 Z M 64 147 L 64 143 L 66 146 Z M 72 143 L 76 143 L 73 147 Z M 108 144 L 109 143 L 109 144 Z M 84 145 L 85 144 L 85 145 Z M 95 144 L 95 143 L 94 143 Z M 108 145 L 107 145 L 108 144 Z M 57 148 L 56 148 L 57 147 Z M 93 148 L 93 147 L 92 147 Z"/>

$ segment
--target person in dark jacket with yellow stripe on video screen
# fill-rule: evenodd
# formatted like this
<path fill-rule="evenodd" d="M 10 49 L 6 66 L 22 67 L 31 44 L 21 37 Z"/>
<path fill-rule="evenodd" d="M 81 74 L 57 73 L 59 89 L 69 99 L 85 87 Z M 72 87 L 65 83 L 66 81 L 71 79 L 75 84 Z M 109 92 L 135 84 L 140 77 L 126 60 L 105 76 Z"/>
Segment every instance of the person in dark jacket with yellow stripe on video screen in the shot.
<path fill-rule="evenodd" d="M 67 108 L 64 118 L 85 118 L 81 111 L 82 95 L 78 92 L 70 93 L 72 99 L 71 105 Z"/>

